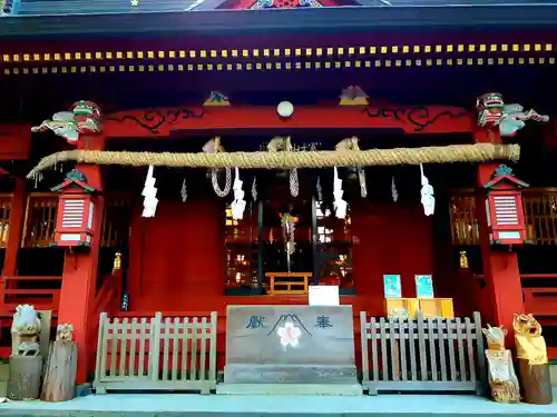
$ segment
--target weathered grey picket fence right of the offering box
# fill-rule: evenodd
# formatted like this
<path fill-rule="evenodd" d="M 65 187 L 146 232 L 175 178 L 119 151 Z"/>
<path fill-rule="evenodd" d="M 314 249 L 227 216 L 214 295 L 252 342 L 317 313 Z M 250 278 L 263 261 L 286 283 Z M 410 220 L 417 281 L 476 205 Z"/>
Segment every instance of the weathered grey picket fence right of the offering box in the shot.
<path fill-rule="evenodd" d="M 483 336 L 473 319 L 368 320 L 360 315 L 362 385 L 379 391 L 475 391 L 485 384 Z"/>

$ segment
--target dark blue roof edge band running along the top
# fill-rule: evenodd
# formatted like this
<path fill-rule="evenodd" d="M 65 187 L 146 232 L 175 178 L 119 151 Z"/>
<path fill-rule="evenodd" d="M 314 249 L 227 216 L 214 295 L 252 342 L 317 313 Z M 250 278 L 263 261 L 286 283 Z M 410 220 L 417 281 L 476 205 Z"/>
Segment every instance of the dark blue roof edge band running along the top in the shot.
<path fill-rule="evenodd" d="M 209 0 L 207 0 L 209 1 Z M 382 32 L 432 29 L 553 29 L 557 4 L 477 7 L 349 7 L 303 10 L 184 11 L 167 13 L 51 14 L 0 19 L 0 38 L 56 36 L 133 36 L 148 33 L 257 34 L 309 32 Z M 108 29 L 107 29 L 108 28 Z"/>

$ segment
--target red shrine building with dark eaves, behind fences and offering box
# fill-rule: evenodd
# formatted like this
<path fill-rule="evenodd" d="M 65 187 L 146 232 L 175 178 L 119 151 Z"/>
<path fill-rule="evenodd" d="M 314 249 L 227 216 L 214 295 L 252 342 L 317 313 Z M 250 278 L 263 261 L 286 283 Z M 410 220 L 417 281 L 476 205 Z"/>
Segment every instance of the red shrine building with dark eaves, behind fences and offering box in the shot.
<path fill-rule="evenodd" d="M 101 312 L 216 320 L 221 371 L 228 306 L 331 286 L 358 358 L 421 309 L 557 359 L 556 8 L 511 2 L 0 1 L 0 358 L 32 304 L 78 384 Z"/>

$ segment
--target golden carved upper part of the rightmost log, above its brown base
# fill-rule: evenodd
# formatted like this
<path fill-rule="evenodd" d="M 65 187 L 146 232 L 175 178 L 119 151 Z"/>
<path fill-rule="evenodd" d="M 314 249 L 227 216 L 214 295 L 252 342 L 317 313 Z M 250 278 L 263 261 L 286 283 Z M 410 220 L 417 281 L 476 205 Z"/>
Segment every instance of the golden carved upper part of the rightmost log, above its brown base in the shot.
<path fill-rule="evenodd" d="M 527 359 L 529 365 L 548 363 L 547 347 L 541 336 L 541 326 L 532 315 L 515 315 L 512 320 L 517 358 Z"/>

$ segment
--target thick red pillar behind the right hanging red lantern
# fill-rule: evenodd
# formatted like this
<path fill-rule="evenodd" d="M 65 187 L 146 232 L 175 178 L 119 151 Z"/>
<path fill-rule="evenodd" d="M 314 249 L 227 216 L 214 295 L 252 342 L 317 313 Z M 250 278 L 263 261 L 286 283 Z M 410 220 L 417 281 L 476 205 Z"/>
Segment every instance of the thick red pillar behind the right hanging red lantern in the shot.
<path fill-rule="evenodd" d="M 475 133 L 476 142 L 500 143 L 498 129 L 488 136 L 485 129 Z M 500 163 L 482 163 L 478 167 L 477 186 L 482 186 L 491 179 Z M 517 254 L 511 250 L 495 250 L 489 241 L 485 196 L 478 196 L 476 210 L 479 222 L 481 257 L 483 260 L 483 275 L 486 280 L 485 296 L 480 302 L 483 322 L 505 326 L 509 330 L 507 344 L 512 344 L 512 316 L 524 312 L 522 286 L 518 269 Z"/>

